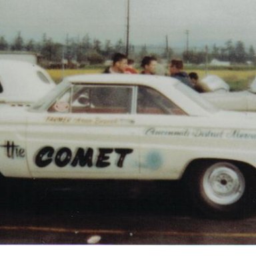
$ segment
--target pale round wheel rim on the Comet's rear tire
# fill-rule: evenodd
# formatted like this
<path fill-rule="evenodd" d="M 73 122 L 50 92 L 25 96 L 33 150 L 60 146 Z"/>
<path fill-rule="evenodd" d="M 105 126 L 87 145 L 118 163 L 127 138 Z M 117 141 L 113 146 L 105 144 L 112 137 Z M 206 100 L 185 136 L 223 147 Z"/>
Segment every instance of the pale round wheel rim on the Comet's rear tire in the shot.
<path fill-rule="evenodd" d="M 203 190 L 213 203 L 230 205 L 242 197 L 245 191 L 245 179 L 235 165 L 217 163 L 205 172 Z"/>

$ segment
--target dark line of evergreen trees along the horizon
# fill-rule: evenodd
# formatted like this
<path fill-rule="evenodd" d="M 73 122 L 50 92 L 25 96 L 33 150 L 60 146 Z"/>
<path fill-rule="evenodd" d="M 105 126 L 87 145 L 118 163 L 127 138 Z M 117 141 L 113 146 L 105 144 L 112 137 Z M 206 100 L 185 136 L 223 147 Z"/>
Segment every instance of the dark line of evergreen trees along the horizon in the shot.
<path fill-rule="evenodd" d="M 104 63 L 105 60 L 111 59 L 113 53 L 125 53 L 125 43 L 119 39 L 112 43 L 110 40 L 101 42 L 99 39 L 91 39 L 88 34 L 80 38 L 69 38 L 65 43 L 58 43 L 53 41 L 51 37 L 47 37 L 44 33 L 41 41 L 37 42 L 33 39 L 25 41 L 21 32 L 13 41 L 8 42 L 5 37 L 0 36 L 0 51 L 29 51 L 37 53 L 43 61 L 49 63 L 61 63 L 63 59 L 71 62 L 79 63 L 79 65 L 95 65 Z M 230 63 L 245 64 L 247 61 L 256 64 L 255 50 L 251 45 L 247 50 L 243 41 L 233 43 L 228 40 L 224 46 L 217 46 L 214 44 L 211 49 L 189 49 L 175 53 L 171 47 L 158 47 L 156 49 L 150 48 L 148 45 L 135 47 L 129 46 L 129 57 L 140 61 L 145 55 L 153 55 L 158 59 L 169 59 L 173 57 L 181 57 L 187 63 L 201 64 L 211 59 L 218 59 L 219 61 L 229 61 Z"/>

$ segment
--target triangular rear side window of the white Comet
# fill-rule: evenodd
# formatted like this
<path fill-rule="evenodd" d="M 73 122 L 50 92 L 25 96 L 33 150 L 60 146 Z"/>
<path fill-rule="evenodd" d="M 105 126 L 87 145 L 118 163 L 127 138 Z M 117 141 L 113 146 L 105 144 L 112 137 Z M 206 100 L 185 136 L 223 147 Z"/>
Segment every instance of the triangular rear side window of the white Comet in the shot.
<path fill-rule="evenodd" d="M 187 115 L 161 93 L 148 87 L 139 87 L 137 113 L 151 115 Z"/>

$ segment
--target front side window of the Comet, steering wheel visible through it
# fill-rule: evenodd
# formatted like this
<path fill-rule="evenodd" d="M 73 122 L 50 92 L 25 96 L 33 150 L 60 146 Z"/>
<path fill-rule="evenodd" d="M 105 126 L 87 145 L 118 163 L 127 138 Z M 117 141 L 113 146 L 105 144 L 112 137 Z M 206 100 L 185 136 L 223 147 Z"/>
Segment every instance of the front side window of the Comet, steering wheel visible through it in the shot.
<path fill-rule="evenodd" d="M 49 108 L 54 112 L 131 113 L 132 88 L 106 85 L 73 85 Z"/>

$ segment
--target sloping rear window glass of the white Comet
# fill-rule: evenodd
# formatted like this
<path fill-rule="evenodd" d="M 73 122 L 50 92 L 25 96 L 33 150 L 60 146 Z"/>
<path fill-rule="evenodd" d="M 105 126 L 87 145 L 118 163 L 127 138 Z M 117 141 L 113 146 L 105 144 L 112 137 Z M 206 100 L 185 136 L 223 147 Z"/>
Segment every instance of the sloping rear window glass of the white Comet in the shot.
<path fill-rule="evenodd" d="M 191 99 L 192 101 L 197 103 L 197 105 L 199 105 L 206 111 L 208 111 L 210 113 L 216 113 L 217 111 L 219 111 L 219 109 L 217 109 L 217 107 L 215 107 L 210 102 L 203 99 L 203 97 L 201 97 L 200 93 L 197 93 L 197 91 L 194 91 L 187 85 L 183 85 L 182 83 L 176 83 L 174 86 L 177 90 L 181 91 L 181 93 L 183 93 L 184 95 L 189 97 L 189 99 Z"/>

